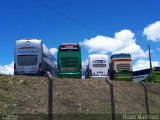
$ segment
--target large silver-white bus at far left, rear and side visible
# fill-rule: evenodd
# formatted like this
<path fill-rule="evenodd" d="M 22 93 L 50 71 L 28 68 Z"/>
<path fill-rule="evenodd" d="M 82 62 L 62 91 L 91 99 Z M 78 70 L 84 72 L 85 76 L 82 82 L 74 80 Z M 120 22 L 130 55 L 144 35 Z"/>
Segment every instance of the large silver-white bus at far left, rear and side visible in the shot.
<path fill-rule="evenodd" d="M 55 58 L 42 40 L 17 40 L 14 53 L 14 74 L 43 75 L 46 71 L 57 75 Z"/>

